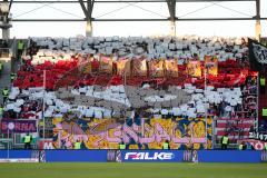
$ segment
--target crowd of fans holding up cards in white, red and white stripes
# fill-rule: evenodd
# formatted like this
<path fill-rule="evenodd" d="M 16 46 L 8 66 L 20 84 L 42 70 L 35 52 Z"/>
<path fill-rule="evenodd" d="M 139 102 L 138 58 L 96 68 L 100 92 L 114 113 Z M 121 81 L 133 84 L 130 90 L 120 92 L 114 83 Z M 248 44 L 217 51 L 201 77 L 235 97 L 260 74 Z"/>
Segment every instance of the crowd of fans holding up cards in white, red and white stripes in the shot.
<path fill-rule="evenodd" d="M 77 117 L 99 119 L 137 115 L 228 120 L 257 118 L 257 77 L 249 71 L 245 39 L 32 38 L 27 53 L 22 57 L 23 65 L 4 105 L 4 118 L 41 119 L 73 112 Z M 218 76 L 188 76 L 187 63 L 199 60 L 204 70 L 207 55 L 217 57 Z M 146 59 L 147 62 L 174 60 L 179 76 L 185 77 L 185 80 L 172 82 L 174 79 L 166 78 L 158 82 L 148 76 L 126 77 L 112 70 L 113 76 L 105 77 L 109 78 L 106 85 L 96 85 L 99 78 L 102 79 L 101 76 L 82 73 L 79 65 L 90 60 L 92 71 L 92 62 L 99 66 L 101 56 L 110 58 L 112 63 L 120 59 Z M 88 82 L 80 82 L 85 78 Z M 60 80 L 68 81 L 69 86 L 57 86 Z M 130 89 L 123 86 L 129 80 L 140 82 Z"/>

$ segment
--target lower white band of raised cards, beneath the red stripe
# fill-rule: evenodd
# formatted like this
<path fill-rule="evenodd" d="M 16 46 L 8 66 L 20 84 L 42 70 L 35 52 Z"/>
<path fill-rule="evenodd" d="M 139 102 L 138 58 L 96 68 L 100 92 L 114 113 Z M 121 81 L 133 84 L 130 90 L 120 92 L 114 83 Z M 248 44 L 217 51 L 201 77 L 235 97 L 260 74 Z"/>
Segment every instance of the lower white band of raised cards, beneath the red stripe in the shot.
<path fill-rule="evenodd" d="M 180 89 L 181 87 L 177 87 Z M 218 88 L 208 87 L 205 92 L 201 89 L 197 89 L 190 83 L 185 85 L 181 90 L 190 93 L 190 100 L 188 103 L 181 103 L 180 106 L 169 107 L 169 108 L 152 108 L 150 107 L 150 112 L 154 115 L 174 115 L 174 116 L 187 116 L 190 118 L 196 118 L 198 113 L 205 113 L 205 105 L 209 108 L 211 103 L 225 102 L 226 107 L 225 112 L 234 111 L 234 108 L 237 105 L 240 105 L 241 91 L 240 88 Z M 75 96 L 90 96 L 95 99 L 101 99 L 102 101 L 112 101 L 119 102 L 125 108 L 130 108 L 130 101 L 125 93 L 123 86 L 110 86 L 105 91 L 93 91 L 92 86 L 87 86 L 79 89 L 73 89 L 71 91 Z M 86 93 L 86 95 L 85 95 Z M 168 93 L 162 96 L 161 100 L 157 100 L 158 96 L 151 96 L 151 100 L 157 100 L 161 103 L 171 99 Z M 55 91 L 44 91 L 42 88 L 30 88 L 28 90 L 19 90 L 19 88 L 13 87 L 9 96 L 9 102 L 4 107 L 4 110 L 13 110 L 14 112 L 20 112 L 22 106 L 28 105 L 29 101 L 41 101 L 44 100 L 47 107 L 44 111 L 44 117 L 61 117 L 68 111 L 79 111 L 80 116 L 97 118 L 111 118 L 115 115 L 116 110 L 103 107 L 96 107 L 93 105 L 83 105 L 82 102 L 65 102 L 61 99 L 58 99 Z M 125 109 L 123 108 L 123 109 Z M 39 110 L 40 111 L 40 110 Z M 119 110 L 122 111 L 122 110 Z M 33 118 L 41 118 L 38 109 L 36 111 L 30 111 Z"/>

